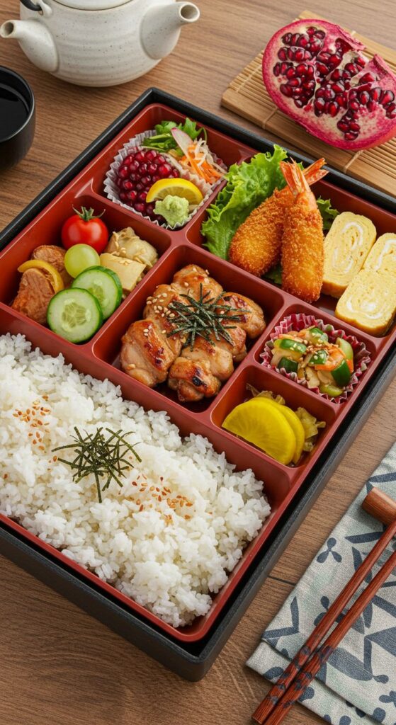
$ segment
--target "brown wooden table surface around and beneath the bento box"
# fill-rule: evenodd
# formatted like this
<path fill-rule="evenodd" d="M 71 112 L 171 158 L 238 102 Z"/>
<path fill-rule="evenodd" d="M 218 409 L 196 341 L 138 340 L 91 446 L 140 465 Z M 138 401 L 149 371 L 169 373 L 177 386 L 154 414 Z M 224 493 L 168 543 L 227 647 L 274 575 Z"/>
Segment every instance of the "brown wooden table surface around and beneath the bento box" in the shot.
<path fill-rule="evenodd" d="M 197 0 L 202 18 L 144 78 L 115 88 L 78 88 L 30 65 L 0 40 L 0 65 L 22 73 L 37 101 L 28 157 L 0 176 L 0 228 L 30 202 L 145 88 L 157 86 L 219 115 L 228 81 L 265 41 L 304 9 L 273 0 Z M 323 3 L 310 9 L 324 14 Z M 0 22 L 17 17 L 0 0 Z M 329 14 L 326 8 L 326 14 Z M 334 21 L 395 47 L 393 0 L 333 0 Z M 249 124 L 244 124 L 249 128 Z M 315 507 L 202 682 L 183 682 L 0 557 L 0 722 L 4 725 L 244 725 L 267 685 L 244 662 L 315 551 L 387 452 L 395 436 L 396 381 L 374 410 Z M 318 722 L 298 707 L 286 723 Z"/>

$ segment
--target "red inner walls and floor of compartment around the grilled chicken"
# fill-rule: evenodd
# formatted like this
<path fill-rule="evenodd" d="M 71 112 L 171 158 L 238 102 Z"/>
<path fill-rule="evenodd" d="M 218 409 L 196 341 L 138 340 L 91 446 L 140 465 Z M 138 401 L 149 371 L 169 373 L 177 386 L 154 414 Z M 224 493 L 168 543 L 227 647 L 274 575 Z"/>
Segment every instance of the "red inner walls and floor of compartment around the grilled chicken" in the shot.
<path fill-rule="evenodd" d="M 212 255 L 208 254 L 207 252 L 203 252 L 202 250 L 199 250 L 197 248 L 181 244 L 178 247 L 171 249 L 170 252 L 165 255 L 158 268 L 156 270 L 152 270 L 152 273 L 147 281 L 144 281 L 141 286 L 136 289 L 131 300 L 125 303 L 125 307 L 123 307 L 123 309 L 120 309 L 118 314 L 115 315 L 115 318 L 113 318 L 112 322 L 107 326 L 107 328 L 104 329 L 102 333 L 97 336 L 93 347 L 94 355 L 99 357 L 101 360 L 104 360 L 105 362 L 110 363 L 111 365 L 115 365 L 117 368 L 120 368 L 121 339 L 123 338 L 132 323 L 136 322 L 137 320 L 142 320 L 144 307 L 147 303 L 147 297 L 151 297 L 154 294 L 157 286 L 161 284 L 169 285 L 173 281 L 173 276 L 177 272 L 185 268 L 187 265 L 190 265 L 191 270 L 193 271 L 194 267 L 205 270 L 208 276 L 212 277 L 216 283 L 219 283 L 220 287 L 219 285 L 217 285 L 216 287 L 219 287 L 220 291 L 221 287 L 223 287 L 226 292 L 230 291 L 236 294 L 241 294 L 244 297 L 248 297 L 250 300 L 252 300 L 252 302 L 255 303 L 255 305 L 258 305 L 263 310 L 266 321 L 271 320 L 275 315 L 279 314 L 279 309 L 283 305 L 283 298 L 281 297 L 281 295 L 268 295 L 268 290 L 266 289 L 265 285 L 263 285 L 263 283 L 261 283 L 260 281 L 257 280 L 256 282 L 252 283 L 251 281 L 249 281 L 249 279 L 244 278 L 243 275 L 240 276 L 239 273 L 234 273 L 234 270 L 231 270 L 226 262 L 223 262 L 221 260 L 214 260 Z M 188 290 L 186 289 L 186 291 Z M 162 290 L 161 292 L 163 293 L 164 291 Z M 180 291 L 180 294 L 184 293 Z M 216 289 L 215 295 L 217 296 L 218 294 L 219 293 Z M 160 300 L 158 304 L 160 304 Z M 231 309 L 234 309 L 232 307 L 232 300 L 228 304 L 231 305 Z M 160 316 L 163 315 L 162 307 L 159 307 L 158 309 L 160 310 Z M 257 333 L 252 334 L 254 338 L 252 340 L 249 339 L 248 336 L 245 341 L 245 336 L 243 337 L 243 341 L 241 343 L 242 355 L 235 356 L 236 359 L 234 358 L 234 368 L 236 367 L 236 365 L 239 364 L 238 362 L 236 362 L 236 360 L 241 360 L 244 357 L 244 344 L 247 344 L 247 349 L 252 349 L 252 346 L 257 344 L 257 341 L 261 339 L 260 329 L 261 328 L 257 326 Z M 147 329 L 145 328 L 144 331 L 147 332 Z M 165 348 L 166 347 L 167 346 L 165 346 Z M 162 350 L 162 353 L 163 352 L 164 351 Z M 177 359 L 179 360 L 178 354 Z M 205 360 L 205 356 L 202 359 Z M 199 360 L 197 359 L 198 364 Z M 173 365 L 173 363 L 170 363 L 170 365 Z M 134 365 L 131 364 L 131 369 L 133 367 Z M 125 372 L 123 374 L 126 375 L 127 373 Z M 215 376 L 215 373 L 213 373 L 213 375 Z M 228 377 L 222 378 L 221 376 L 219 376 L 219 379 L 228 381 L 229 377 L 230 376 L 228 374 Z M 207 384 L 212 385 L 214 384 L 214 382 L 215 381 L 210 378 L 210 381 Z M 205 387 L 205 390 L 210 391 L 211 389 L 212 388 L 207 389 L 207 387 Z M 178 402 L 178 396 L 176 392 L 170 390 L 167 381 L 156 386 L 155 390 L 170 398 L 171 400 Z M 213 393 L 213 395 L 215 395 L 215 393 Z M 200 400 L 197 403 L 182 402 L 181 405 L 188 405 L 188 407 L 191 407 L 192 405 L 192 410 L 202 412 L 203 410 L 206 410 L 206 408 L 210 406 L 212 402 L 213 396 L 210 395 L 210 397 L 204 397 L 204 399 Z M 178 404 L 180 405 L 179 402 Z"/>

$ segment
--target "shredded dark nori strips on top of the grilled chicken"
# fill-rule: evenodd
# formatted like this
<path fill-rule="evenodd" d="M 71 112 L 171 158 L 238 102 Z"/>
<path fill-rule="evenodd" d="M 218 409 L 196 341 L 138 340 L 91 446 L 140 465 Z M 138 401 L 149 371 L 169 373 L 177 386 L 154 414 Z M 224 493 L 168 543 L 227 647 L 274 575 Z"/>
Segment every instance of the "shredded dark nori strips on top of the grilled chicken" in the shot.
<path fill-rule="evenodd" d="M 203 337 L 211 345 L 214 345 L 210 336 L 213 334 L 216 340 L 223 337 L 227 342 L 232 344 L 231 336 L 227 330 L 233 330 L 236 325 L 226 325 L 225 320 L 241 322 L 241 313 L 239 315 L 229 315 L 228 312 L 238 312 L 237 307 L 229 307 L 228 305 L 219 305 L 219 300 L 223 297 L 221 292 L 218 297 L 209 297 L 210 292 L 202 294 L 202 284 L 199 285 L 199 299 L 190 297 L 189 294 L 182 294 L 188 304 L 179 302 L 177 299 L 170 302 L 168 310 L 172 310 L 176 314 L 176 320 L 173 324 L 175 328 L 168 333 L 168 337 L 174 335 L 186 335 L 183 347 L 190 346 L 194 348 L 195 338 Z"/>

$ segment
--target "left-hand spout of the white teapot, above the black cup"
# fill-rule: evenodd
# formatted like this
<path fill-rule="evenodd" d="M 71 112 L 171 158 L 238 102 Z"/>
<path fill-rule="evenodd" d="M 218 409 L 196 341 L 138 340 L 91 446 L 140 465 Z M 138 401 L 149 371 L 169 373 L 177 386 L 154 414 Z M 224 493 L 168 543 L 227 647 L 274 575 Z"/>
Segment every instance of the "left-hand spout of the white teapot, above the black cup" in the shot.
<path fill-rule="evenodd" d="M 41 70 L 57 70 L 59 59 L 54 38 L 40 20 L 7 20 L 0 26 L 0 36 L 19 41 L 28 59 Z"/>

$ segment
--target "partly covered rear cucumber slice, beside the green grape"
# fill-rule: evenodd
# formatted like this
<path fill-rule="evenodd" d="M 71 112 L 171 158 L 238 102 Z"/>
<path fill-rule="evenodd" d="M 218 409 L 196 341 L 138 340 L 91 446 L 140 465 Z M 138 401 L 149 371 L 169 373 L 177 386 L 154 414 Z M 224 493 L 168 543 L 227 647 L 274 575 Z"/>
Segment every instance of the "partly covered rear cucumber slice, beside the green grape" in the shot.
<path fill-rule="evenodd" d="M 86 289 L 96 297 L 104 320 L 117 310 L 123 299 L 123 287 L 119 276 L 106 267 L 89 267 L 73 280 L 72 289 Z"/>

